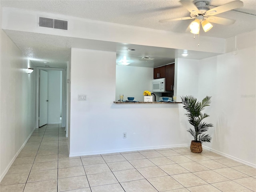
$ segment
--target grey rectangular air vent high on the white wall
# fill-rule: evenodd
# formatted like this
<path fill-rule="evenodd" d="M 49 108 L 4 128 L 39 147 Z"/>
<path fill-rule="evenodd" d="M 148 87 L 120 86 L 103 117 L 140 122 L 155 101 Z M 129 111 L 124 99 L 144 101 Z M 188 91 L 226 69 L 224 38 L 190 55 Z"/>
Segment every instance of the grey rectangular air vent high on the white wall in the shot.
<path fill-rule="evenodd" d="M 68 30 L 68 22 L 64 20 L 39 17 L 39 26 Z"/>

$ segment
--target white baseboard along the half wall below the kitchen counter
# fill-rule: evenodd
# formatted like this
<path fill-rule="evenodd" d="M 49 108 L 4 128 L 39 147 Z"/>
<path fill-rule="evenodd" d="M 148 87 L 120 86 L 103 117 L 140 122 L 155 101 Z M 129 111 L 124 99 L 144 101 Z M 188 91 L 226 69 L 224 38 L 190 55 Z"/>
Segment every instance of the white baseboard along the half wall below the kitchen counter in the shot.
<path fill-rule="evenodd" d="M 152 146 L 152 147 L 141 147 L 141 148 L 126 148 L 119 150 L 105 150 L 105 151 L 95 151 L 88 153 L 70 153 L 70 157 L 76 156 L 86 156 L 86 155 L 98 155 L 98 154 L 108 154 L 108 153 L 119 153 L 119 152 L 129 152 L 129 151 L 140 151 L 140 150 L 153 150 L 162 148 L 176 148 L 176 147 L 189 147 L 190 144 L 180 144 L 180 145 L 165 145 L 165 146 Z"/>

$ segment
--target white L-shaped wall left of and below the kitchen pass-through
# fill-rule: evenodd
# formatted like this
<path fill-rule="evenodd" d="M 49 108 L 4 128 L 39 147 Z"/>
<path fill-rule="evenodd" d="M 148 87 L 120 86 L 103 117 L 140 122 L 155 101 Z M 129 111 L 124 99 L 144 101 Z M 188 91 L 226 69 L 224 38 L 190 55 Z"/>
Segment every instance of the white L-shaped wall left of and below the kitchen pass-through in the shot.
<path fill-rule="evenodd" d="M 190 142 L 180 128 L 178 104 L 113 103 L 115 52 L 72 48 L 71 62 L 70 156 Z M 78 101 L 78 94 L 86 94 L 87 101 Z"/>

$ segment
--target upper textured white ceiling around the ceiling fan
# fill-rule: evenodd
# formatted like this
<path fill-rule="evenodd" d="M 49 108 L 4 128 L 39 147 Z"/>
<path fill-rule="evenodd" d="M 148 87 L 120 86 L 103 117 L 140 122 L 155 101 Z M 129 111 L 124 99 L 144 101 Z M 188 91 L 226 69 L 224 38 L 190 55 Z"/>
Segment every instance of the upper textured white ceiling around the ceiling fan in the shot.
<path fill-rule="evenodd" d="M 212 0 L 210 5 L 220 6 L 230 0 Z M 255 30 L 256 0 L 243 0 L 239 12 L 229 11 L 216 16 L 235 19 L 230 26 L 213 24 L 209 32 L 202 36 L 228 38 Z M 159 20 L 189 16 L 189 12 L 178 0 L 1 0 L 1 6 L 15 7 L 55 14 L 63 14 L 92 20 L 113 22 L 145 28 L 186 32 L 191 20 L 160 23 Z M 212 7 L 213 8 L 213 7 Z M 243 14 L 245 12 L 251 15 Z M 249 22 L 252 21 L 252 22 Z"/>

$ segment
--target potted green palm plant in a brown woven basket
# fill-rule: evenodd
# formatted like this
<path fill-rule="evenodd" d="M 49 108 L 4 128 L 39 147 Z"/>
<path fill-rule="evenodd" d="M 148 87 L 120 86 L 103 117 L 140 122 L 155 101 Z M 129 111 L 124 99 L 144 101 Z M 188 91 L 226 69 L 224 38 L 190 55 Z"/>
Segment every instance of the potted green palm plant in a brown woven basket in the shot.
<path fill-rule="evenodd" d="M 202 142 L 211 142 L 212 138 L 205 132 L 213 127 L 213 124 L 202 122 L 206 117 L 209 117 L 208 114 L 202 113 L 202 110 L 209 106 L 211 103 L 210 96 L 206 96 L 202 102 L 197 102 L 196 98 L 193 96 L 183 96 L 181 97 L 183 108 L 188 112 L 185 115 L 188 117 L 188 122 L 194 127 L 190 128 L 188 132 L 194 136 L 194 140 L 191 141 L 190 150 L 194 153 L 202 152 Z"/>

